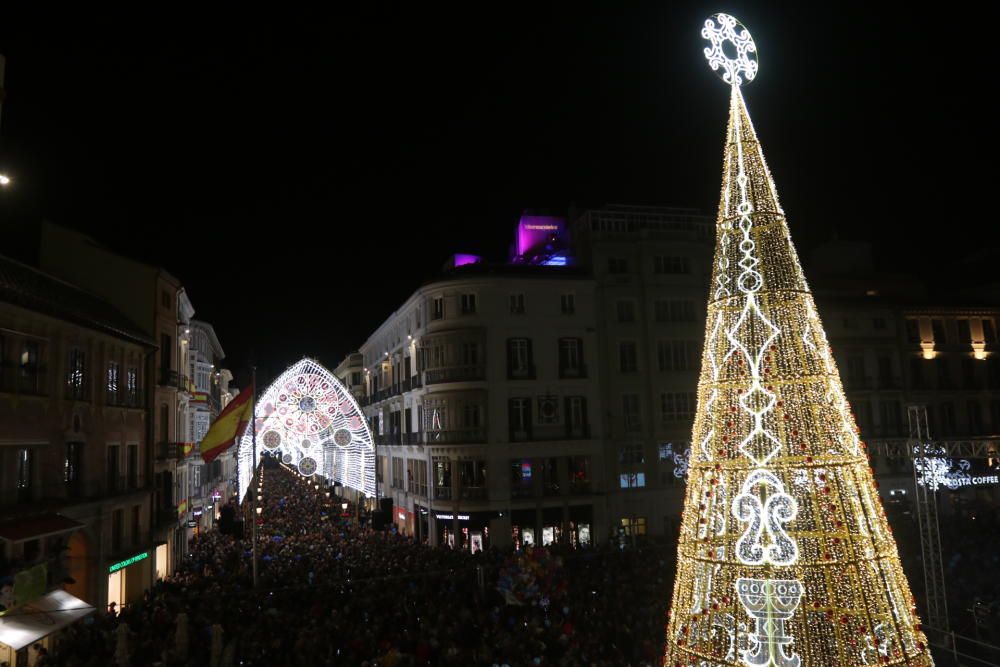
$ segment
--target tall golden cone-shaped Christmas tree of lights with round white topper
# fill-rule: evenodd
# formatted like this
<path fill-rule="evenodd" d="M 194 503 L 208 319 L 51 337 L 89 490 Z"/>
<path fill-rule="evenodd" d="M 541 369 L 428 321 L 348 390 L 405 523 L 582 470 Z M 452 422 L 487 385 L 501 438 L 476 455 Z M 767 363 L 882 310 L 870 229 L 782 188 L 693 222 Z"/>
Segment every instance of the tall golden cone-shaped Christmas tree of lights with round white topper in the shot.
<path fill-rule="evenodd" d="M 665 664 L 932 665 L 743 101 L 756 47 L 702 35 L 731 98 Z"/>

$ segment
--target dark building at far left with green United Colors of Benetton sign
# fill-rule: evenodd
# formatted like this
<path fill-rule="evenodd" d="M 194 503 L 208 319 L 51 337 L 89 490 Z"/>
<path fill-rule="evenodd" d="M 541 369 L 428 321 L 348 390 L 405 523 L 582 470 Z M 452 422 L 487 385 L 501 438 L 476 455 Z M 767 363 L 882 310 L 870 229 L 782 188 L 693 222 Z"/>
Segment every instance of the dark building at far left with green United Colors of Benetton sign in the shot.
<path fill-rule="evenodd" d="M 103 609 L 151 585 L 150 336 L 103 299 L 0 258 L 0 556 Z M 128 566 L 122 565 L 128 563 Z M 59 623 L 55 623 L 53 629 Z"/>

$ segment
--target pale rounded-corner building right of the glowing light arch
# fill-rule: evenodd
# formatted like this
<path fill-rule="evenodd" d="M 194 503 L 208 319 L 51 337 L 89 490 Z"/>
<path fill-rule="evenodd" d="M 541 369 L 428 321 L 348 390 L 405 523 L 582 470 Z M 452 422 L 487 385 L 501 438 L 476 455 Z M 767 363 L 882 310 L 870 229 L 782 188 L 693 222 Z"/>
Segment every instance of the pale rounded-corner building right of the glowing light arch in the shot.
<path fill-rule="evenodd" d="M 399 530 L 473 550 L 607 531 L 594 320 L 583 272 L 473 264 L 365 341 L 361 402 Z M 338 368 L 350 381 L 356 357 Z"/>

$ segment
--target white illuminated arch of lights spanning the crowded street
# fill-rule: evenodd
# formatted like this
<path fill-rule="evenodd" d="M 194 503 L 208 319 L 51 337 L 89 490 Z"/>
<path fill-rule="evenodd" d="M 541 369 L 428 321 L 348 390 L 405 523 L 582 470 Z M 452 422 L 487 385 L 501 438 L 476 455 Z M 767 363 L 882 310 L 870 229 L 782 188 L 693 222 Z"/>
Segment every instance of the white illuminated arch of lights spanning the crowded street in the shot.
<path fill-rule="evenodd" d="M 361 409 L 327 369 L 303 359 L 281 374 L 257 399 L 257 461 L 251 426 L 240 438 L 240 500 L 254 464 L 277 453 L 303 475 L 375 495 L 375 446 Z"/>

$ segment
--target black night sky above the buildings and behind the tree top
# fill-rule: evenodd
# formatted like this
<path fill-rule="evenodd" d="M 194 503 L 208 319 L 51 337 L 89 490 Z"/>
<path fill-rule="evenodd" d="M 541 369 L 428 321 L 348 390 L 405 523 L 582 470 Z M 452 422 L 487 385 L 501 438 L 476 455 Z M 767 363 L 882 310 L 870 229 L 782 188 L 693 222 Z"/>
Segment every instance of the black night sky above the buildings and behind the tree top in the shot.
<path fill-rule="evenodd" d="M 341 4 L 371 7 L 4 12 L 0 221 L 166 267 L 231 367 L 335 365 L 451 252 L 501 259 L 522 209 L 714 213 L 722 10 L 760 50 L 745 94 L 800 249 L 869 239 L 933 276 L 1000 237 L 992 21 L 957 5 Z"/>

